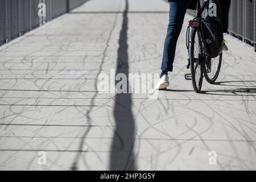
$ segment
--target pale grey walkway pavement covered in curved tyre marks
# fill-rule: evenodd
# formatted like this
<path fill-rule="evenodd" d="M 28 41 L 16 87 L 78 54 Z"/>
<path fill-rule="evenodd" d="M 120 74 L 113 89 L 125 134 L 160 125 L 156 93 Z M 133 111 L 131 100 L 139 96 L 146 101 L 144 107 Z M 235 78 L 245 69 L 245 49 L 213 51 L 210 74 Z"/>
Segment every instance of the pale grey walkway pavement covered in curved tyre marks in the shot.
<path fill-rule="evenodd" d="M 159 73 L 167 23 L 161 0 L 91 0 L 0 47 L 0 169 L 255 170 L 256 53 L 229 35 L 203 94 L 184 79 L 187 23 L 159 99 L 97 92 L 110 69 Z"/>

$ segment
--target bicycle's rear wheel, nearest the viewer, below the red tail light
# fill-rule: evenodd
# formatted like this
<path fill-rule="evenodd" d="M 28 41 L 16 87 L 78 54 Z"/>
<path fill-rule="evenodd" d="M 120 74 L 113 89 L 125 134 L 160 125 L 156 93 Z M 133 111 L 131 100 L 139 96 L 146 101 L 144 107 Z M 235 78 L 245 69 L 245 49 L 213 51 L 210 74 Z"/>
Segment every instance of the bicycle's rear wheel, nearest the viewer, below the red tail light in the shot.
<path fill-rule="evenodd" d="M 189 60 L 191 63 L 191 80 L 196 93 L 200 93 L 203 84 L 204 69 L 203 64 L 201 64 L 202 50 L 203 47 L 199 31 L 197 28 L 192 28 L 189 41 Z"/>

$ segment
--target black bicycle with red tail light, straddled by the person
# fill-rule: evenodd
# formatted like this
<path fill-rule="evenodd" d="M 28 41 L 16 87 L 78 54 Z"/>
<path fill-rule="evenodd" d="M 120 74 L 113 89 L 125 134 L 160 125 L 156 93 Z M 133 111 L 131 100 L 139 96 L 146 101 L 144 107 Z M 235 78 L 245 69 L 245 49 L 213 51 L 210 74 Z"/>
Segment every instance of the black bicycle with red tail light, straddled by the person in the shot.
<path fill-rule="evenodd" d="M 217 57 L 211 58 L 204 47 L 201 21 L 204 19 L 202 15 L 208 10 L 209 1 L 204 1 L 201 6 L 200 0 L 197 0 L 197 16 L 189 20 L 187 29 L 186 46 L 189 55 L 187 68 L 191 68 L 191 74 L 186 74 L 185 79 L 192 80 L 193 89 L 196 93 L 201 92 L 203 77 L 210 84 L 217 80 L 222 63 L 222 52 Z"/>

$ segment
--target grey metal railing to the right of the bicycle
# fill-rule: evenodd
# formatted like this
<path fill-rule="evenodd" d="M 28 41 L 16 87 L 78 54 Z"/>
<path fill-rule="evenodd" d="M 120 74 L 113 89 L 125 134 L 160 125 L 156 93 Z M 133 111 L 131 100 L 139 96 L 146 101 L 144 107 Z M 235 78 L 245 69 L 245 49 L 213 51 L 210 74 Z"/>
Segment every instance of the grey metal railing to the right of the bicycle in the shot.
<path fill-rule="evenodd" d="M 188 14 L 196 16 L 196 11 L 188 10 Z M 256 2 L 248 0 L 232 0 L 229 11 L 230 35 L 254 46 L 256 52 Z"/>

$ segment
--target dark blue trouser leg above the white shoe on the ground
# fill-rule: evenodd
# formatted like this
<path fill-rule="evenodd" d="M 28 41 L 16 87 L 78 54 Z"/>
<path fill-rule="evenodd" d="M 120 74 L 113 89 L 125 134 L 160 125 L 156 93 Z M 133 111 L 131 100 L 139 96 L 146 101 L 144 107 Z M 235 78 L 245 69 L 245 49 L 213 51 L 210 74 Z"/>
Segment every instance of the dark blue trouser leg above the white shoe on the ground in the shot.
<path fill-rule="evenodd" d="M 170 2 L 169 24 L 166 40 L 164 40 L 163 60 L 161 66 L 163 71 L 172 72 L 177 40 L 183 26 L 189 2 L 190 0 L 172 0 Z"/>

